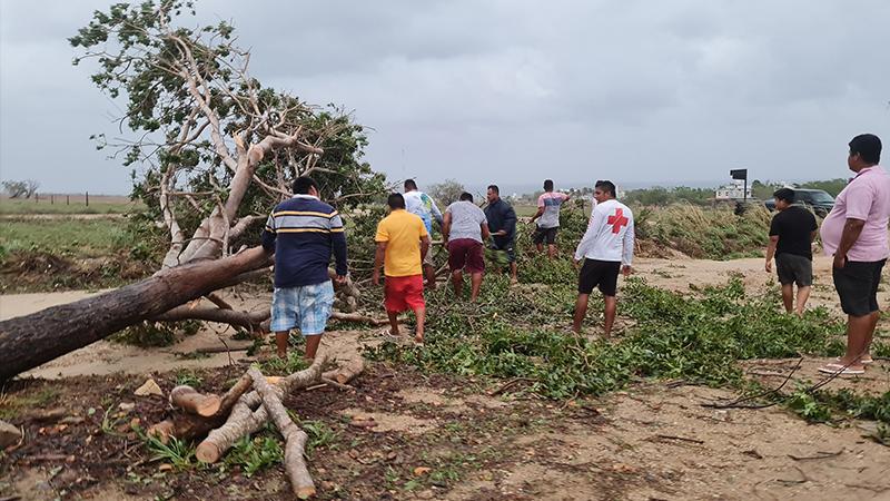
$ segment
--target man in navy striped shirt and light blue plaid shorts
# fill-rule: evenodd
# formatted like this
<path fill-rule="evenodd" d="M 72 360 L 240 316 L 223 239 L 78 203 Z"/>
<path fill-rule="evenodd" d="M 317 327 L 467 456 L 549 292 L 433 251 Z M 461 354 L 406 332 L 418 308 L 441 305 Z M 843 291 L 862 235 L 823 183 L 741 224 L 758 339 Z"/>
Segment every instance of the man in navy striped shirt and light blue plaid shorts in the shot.
<path fill-rule="evenodd" d="M 271 331 L 278 356 L 287 356 L 290 330 L 306 337 L 306 358 L 315 358 L 334 307 L 334 286 L 327 272 L 336 258 L 336 281 L 346 282 L 346 234 L 334 207 L 318 199 L 310 177 L 294 181 L 294 197 L 278 204 L 266 222 L 263 248 L 275 253 Z"/>

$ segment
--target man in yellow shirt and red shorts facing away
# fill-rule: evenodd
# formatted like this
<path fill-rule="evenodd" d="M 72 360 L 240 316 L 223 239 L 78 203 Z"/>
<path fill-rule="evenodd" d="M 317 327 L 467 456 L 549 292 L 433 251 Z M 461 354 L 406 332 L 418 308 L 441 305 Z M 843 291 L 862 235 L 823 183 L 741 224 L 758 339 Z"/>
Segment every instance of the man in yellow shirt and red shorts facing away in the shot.
<path fill-rule="evenodd" d="M 389 335 L 398 335 L 398 314 L 413 310 L 417 317 L 414 341 L 424 342 L 423 261 L 429 250 L 429 234 L 423 219 L 405 210 L 405 198 L 394 193 L 386 200 L 389 215 L 377 225 L 377 253 L 374 256 L 374 285 L 380 284 L 380 265 L 386 275 L 384 306 L 389 316 Z"/>

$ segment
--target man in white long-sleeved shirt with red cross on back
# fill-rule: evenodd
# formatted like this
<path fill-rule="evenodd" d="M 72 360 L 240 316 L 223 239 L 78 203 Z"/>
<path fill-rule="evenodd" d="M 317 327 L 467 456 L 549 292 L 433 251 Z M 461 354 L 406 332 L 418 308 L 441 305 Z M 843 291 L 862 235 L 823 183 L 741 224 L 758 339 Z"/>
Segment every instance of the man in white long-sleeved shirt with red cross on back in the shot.
<path fill-rule="evenodd" d="M 591 215 L 584 238 L 575 250 L 575 264 L 581 261 L 577 281 L 577 302 L 575 322 L 572 327 L 581 334 L 581 324 L 587 313 L 587 299 L 594 287 L 599 287 L 605 299 L 605 323 L 603 331 L 609 336 L 615 323 L 615 292 L 619 273 L 631 274 L 633 262 L 633 213 L 626 205 L 615 199 L 615 185 L 609 180 L 597 180 L 593 190 L 596 207 Z"/>

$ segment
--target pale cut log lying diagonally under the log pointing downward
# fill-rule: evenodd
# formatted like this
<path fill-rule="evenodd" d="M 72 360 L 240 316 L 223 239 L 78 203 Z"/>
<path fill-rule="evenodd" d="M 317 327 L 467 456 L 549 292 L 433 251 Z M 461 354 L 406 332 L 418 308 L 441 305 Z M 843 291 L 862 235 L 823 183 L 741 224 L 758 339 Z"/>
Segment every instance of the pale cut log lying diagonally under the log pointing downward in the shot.
<path fill-rule="evenodd" d="M 319 355 L 308 369 L 290 374 L 273 387 L 278 389 L 283 395 L 286 395 L 298 389 L 312 386 L 322 381 L 325 365 L 327 365 L 327 357 Z M 231 409 L 231 414 L 229 414 L 225 424 L 212 430 L 198 444 L 198 449 L 195 452 L 198 460 L 205 463 L 215 463 L 241 436 L 259 431 L 269 419 L 266 407 L 261 403 L 263 399 L 255 391 L 243 395 Z"/>

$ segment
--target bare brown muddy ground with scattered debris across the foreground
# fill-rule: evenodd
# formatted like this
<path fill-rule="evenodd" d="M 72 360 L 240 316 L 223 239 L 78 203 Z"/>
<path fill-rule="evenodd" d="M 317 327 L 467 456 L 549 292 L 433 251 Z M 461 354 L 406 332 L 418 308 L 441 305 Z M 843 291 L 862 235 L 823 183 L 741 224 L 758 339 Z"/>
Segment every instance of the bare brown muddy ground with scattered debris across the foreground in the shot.
<path fill-rule="evenodd" d="M 835 308 L 828 266 L 817 259 L 813 303 Z M 733 275 L 750 289 L 771 279 L 762 259 L 642 259 L 639 267 L 654 285 L 676 291 Z M 0 296 L 0 316 L 77 297 Z M 881 302 L 888 302 L 884 292 Z M 0 498 L 293 499 L 280 466 L 251 477 L 233 462 L 177 470 L 152 460 L 132 432 L 166 412 L 162 397 L 134 395 L 146 379 L 168 392 L 188 367 L 202 390 L 221 392 L 245 371 L 251 361 L 245 352 L 182 356 L 229 334 L 208 330 L 148 351 L 96 343 L 7 385 L 0 412 L 26 439 L 2 456 Z M 376 342 L 368 332 L 336 332 L 323 348 L 343 358 Z M 793 379 L 819 379 L 823 362 L 805 360 Z M 778 385 L 795 365 L 744 366 L 751 377 Z M 890 450 L 857 422 L 810 425 L 781 407 L 715 410 L 706 405 L 735 395 L 672 382 L 640 381 L 573 402 L 492 394 L 504 383 L 370 364 L 354 392 L 319 389 L 286 404 L 330 432 L 309 454 L 319 499 L 890 499 Z M 890 364 L 878 361 L 866 376 L 828 387 L 886 392 Z M 370 419 L 375 426 L 354 425 Z"/>

